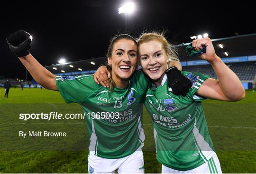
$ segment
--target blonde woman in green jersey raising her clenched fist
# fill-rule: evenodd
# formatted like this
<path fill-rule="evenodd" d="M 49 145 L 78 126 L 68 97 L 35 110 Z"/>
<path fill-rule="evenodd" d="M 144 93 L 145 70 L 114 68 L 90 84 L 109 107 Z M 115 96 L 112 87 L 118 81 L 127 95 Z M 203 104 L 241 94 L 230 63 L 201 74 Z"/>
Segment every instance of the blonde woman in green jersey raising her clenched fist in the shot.
<path fill-rule="evenodd" d="M 143 33 L 137 40 L 139 61 L 152 83 L 146 91 L 145 106 L 154 125 L 157 160 L 162 173 L 222 173 L 210 139 L 201 101 L 238 101 L 245 90 L 238 76 L 216 55 L 209 38 L 192 42 L 199 58 L 213 67 L 218 80 L 201 73 L 183 71 L 192 86 L 185 96 L 174 95 L 166 81 L 170 44 L 161 33 Z M 232 89 L 232 90 L 230 90 Z"/>

